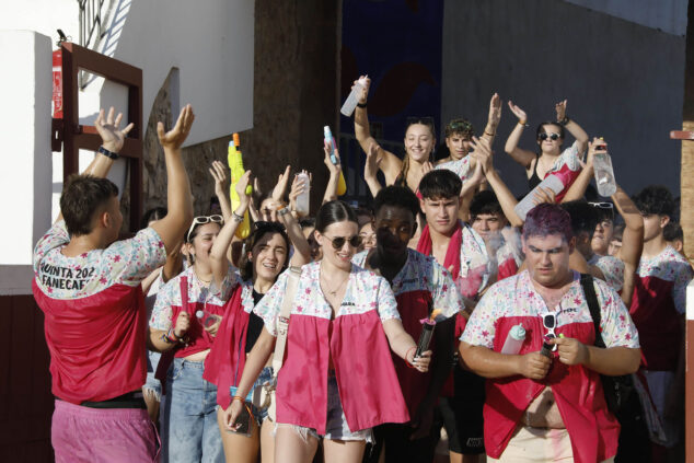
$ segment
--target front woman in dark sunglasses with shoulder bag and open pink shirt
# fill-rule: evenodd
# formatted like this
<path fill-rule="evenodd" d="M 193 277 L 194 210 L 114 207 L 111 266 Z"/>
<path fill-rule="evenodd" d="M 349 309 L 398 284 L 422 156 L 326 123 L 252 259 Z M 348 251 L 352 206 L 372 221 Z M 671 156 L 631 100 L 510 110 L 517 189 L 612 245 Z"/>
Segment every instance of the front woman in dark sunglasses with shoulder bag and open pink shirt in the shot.
<path fill-rule="evenodd" d="M 301 268 L 291 302 L 275 397 L 275 461 L 311 462 L 322 439 L 325 461 L 361 462 L 371 428 L 409 419 L 391 350 L 417 371 L 428 369 L 431 352 L 415 357 L 417 345 L 403 329 L 388 281 L 351 263 L 361 242 L 357 228 L 357 216 L 343 201 L 328 201 L 317 212 L 323 258 Z M 224 410 L 230 429 L 274 350 L 289 271 L 254 308 L 265 325 Z"/>

